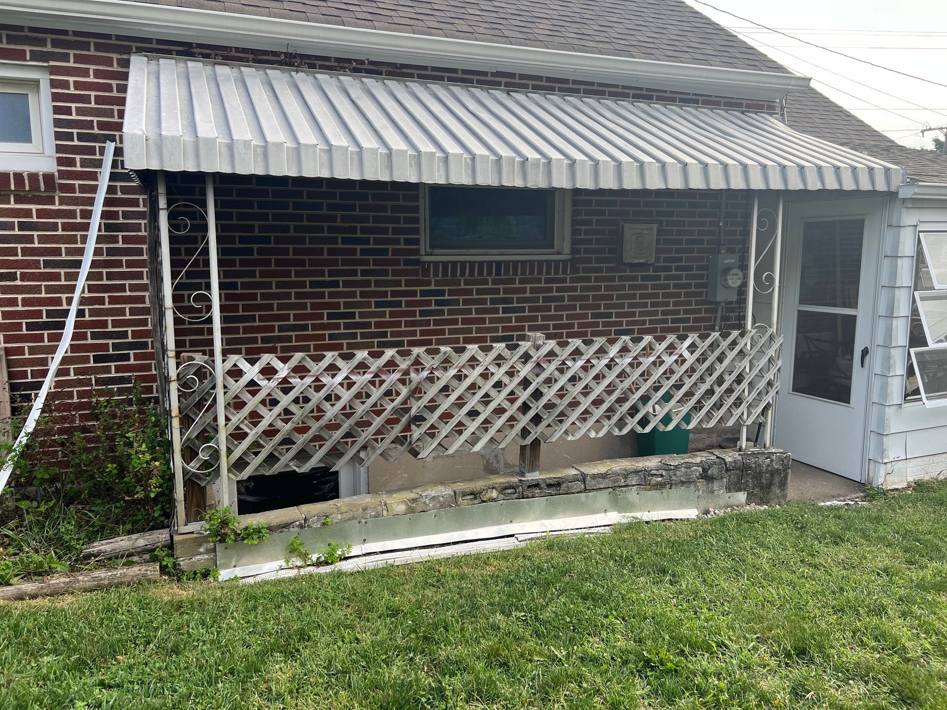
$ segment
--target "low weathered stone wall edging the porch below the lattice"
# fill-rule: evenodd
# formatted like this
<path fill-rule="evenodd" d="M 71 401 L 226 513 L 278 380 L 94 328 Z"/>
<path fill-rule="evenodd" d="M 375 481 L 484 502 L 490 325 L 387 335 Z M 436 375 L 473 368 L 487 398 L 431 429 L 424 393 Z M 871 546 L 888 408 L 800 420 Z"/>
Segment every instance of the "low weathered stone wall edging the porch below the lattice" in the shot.
<path fill-rule="evenodd" d="M 707 493 L 746 491 L 747 503 L 786 502 L 789 453 L 778 449 L 739 452 L 721 449 L 667 456 L 616 458 L 540 471 L 534 478 L 497 473 L 467 481 L 410 490 L 369 493 L 325 503 L 241 516 L 241 524 L 264 523 L 270 532 L 318 527 L 326 520 L 353 520 L 411 515 L 495 501 L 541 498 L 612 488 L 657 490 L 688 486 Z M 182 570 L 215 567 L 215 545 L 203 533 L 174 536 L 174 554 Z"/>

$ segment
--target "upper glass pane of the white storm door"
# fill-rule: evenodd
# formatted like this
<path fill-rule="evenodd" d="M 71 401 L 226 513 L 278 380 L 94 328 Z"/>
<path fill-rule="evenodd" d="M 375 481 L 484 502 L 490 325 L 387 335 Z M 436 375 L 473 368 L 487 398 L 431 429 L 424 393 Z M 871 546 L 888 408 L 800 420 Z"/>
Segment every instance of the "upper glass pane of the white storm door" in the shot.
<path fill-rule="evenodd" d="M 805 223 L 799 304 L 858 308 L 864 235 L 861 219 Z"/>

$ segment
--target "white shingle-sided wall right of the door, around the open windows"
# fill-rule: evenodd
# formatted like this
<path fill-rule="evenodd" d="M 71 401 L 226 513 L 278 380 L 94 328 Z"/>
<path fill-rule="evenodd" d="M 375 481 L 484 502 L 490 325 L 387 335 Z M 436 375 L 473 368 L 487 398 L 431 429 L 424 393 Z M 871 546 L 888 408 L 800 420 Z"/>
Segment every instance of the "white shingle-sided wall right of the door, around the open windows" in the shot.
<path fill-rule="evenodd" d="M 867 482 L 898 488 L 916 479 L 947 475 L 947 407 L 928 409 L 920 401 L 904 401 L 919 226 L 947 230 L 947 200 L 892 198 L 887 224 Z"/>

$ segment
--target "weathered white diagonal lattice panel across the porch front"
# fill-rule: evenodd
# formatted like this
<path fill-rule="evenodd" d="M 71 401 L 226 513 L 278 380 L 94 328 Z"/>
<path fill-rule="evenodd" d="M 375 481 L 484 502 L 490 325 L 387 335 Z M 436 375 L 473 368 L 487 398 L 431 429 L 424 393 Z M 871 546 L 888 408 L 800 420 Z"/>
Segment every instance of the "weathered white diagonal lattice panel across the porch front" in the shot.
<path fill-rule="evenodd" d="M 373 357 L 230 356 L 223 365 L 229 469 L 242 478 L 337 469 L 355 455 L 370 463 L 537 439 L 748 424 L 775 398 L 780 345 L 781 337 L 756 328 Z M 212 375 L 198 358 L 182 377 L 191 383 L 183 444 L 198 462 L 217 431 Z"/>

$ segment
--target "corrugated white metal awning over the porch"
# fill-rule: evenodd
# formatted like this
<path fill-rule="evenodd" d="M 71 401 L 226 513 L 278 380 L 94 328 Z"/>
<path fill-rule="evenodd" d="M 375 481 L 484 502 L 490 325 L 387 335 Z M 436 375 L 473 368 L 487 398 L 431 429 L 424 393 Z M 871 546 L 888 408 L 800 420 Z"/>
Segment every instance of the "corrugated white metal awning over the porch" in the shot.
<path fill-rule="evenodd" d="M 134 55 L 129 169 L 452 185 L 896 190 L 772 115 Z"/>

